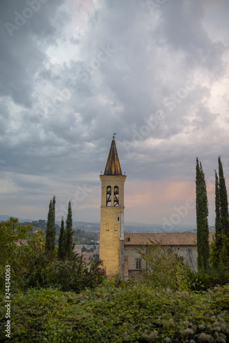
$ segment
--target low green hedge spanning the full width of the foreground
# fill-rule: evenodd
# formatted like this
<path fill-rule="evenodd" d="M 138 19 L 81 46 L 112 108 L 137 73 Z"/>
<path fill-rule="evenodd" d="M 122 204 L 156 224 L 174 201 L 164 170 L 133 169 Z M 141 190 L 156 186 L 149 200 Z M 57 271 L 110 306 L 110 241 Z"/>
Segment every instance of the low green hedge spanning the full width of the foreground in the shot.
<path fill-rule="evenodd" d="M 29 289 L 12 295 L 10 342 L 229 342 L 228 294 L 229 285 L 192 294 L 112 281 L 80 294 Z"/>

